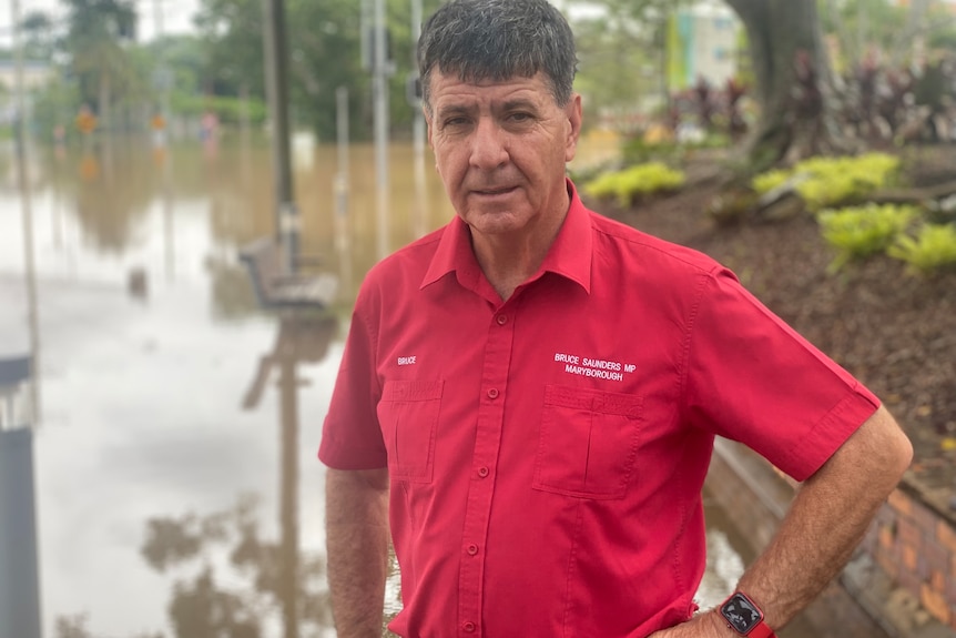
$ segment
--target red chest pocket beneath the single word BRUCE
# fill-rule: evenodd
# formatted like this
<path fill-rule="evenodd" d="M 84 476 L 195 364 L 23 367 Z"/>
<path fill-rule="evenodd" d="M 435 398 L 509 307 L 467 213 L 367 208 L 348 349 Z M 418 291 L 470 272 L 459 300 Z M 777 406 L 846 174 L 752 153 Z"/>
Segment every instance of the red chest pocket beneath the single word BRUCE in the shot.
<path fill-rule="evenodd" d="M 390 478 L 431 483 L 444 385 L 443 381 L 389 381 L 382 388 L 378 423 Z"/>

